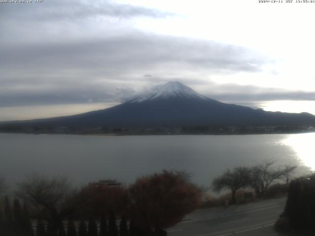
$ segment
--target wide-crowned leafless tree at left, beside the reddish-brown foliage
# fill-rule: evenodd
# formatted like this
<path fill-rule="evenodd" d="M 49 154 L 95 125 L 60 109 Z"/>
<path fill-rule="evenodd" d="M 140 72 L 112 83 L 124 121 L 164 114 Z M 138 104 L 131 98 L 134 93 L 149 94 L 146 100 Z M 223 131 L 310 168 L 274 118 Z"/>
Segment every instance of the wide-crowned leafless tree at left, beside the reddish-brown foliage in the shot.
<path fill-rule="evenodd" d="M 18 196 L 34 207 L 44 209 L 51 224 L 52 235 L 57 236 L 62 220 L 85 203 L 78 191 L 72 189 L 66 177 L 48 177 L 32 174 L 19 183 Z"/>

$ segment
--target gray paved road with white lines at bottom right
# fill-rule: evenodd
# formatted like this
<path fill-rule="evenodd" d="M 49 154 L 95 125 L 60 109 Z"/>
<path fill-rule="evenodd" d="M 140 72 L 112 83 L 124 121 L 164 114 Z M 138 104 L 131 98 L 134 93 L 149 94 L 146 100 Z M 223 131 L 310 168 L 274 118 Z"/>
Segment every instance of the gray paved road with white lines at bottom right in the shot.
<path fill-rule="evenodd" d="M 285 200 L 200 209 L 168 229 L 168 236 L 278 236 L 273 225 L 284 210 Z"/>

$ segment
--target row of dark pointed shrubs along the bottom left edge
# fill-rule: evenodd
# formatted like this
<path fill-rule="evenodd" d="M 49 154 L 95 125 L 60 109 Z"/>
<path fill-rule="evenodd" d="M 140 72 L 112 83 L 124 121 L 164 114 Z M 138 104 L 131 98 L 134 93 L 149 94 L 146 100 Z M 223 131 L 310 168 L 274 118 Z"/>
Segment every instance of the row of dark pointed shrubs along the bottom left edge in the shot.
<path fill-rule="evenodd" d="M 45 221 L 46 222 L 46 221 Z M 66 225 L 66 227 L 64 227 Z M 34 234 L 36 232 L 36 234 Z M 126 217 L 120 220 L 117 227 L 116 217 L 113 211 L 109 213 L 108 223 L 102 217 L 99 224 L 91 218 L 86 224 L 85 221 L 75 223 L 69 219 L 66 224 L 60 223 L 58 231 L 52 229 L 51 223 L 44 223 L 38 219 L 36 226 L 32 226 L 32 221 L 28 213 L 28 208 L 20 206 L 19 200 L 14 200 L 13 210 L 8 199 L 5 201 L 4 217 L 0 212 L 0 236 L 166 236 L 164 230 L 157 229 L 148 231 L 136 228 L 132 223 L 129 227 Z"/>

